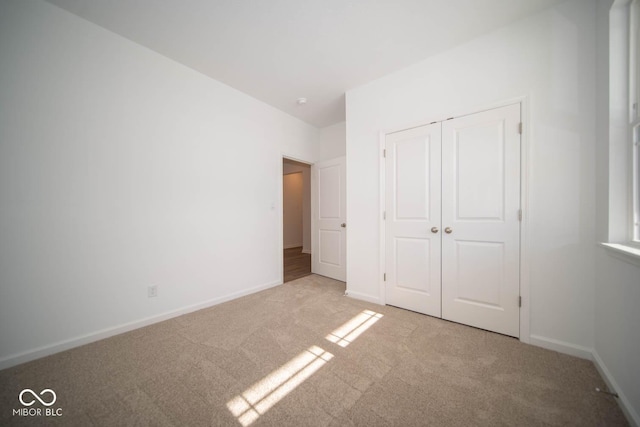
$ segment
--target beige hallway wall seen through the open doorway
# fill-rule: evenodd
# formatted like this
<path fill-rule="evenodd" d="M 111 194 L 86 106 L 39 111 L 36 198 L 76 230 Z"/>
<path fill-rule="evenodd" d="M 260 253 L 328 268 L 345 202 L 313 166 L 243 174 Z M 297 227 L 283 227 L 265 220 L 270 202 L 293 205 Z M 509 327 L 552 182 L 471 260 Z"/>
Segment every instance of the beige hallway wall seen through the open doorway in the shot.
<path fill-rule="evenodd" d="M 304 181 L 302 172 L 282 177 L 284 248 L 302 246 L 302 199 Z"/>

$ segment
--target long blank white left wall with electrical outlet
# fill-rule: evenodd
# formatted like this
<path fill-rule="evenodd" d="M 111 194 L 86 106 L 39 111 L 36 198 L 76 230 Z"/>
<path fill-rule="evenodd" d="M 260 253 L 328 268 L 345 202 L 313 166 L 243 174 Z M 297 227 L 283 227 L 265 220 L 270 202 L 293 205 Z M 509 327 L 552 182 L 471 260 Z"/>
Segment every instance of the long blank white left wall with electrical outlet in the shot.
<path fill-rule="evenodd" d="M 280 283 L 316 128 L 39 1 L 0 58 L 0 368 Z"/>

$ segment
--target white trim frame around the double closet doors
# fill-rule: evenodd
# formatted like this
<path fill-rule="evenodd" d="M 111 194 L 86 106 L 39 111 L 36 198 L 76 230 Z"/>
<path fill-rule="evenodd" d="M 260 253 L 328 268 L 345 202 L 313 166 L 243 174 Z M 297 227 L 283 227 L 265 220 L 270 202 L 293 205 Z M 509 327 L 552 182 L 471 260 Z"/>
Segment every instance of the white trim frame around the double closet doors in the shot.
<path fill-rule="evenodd" d="M 530 263 L 529 263 L 529 233 L 530 233 L 530 217 L 531 212 L 529 210 L 529 185 L 531 175 L 531 165 L 529 159 L 530 154 L 530 130 L 529 130 L 529 96 L 519 96 L 508 100 L 492 104 L 484 104 L 476 108 L 465 108 L 453 112 L 452 114 L 443 115 L 440 117 L 432 118 L 431 120 L 423 120 L 419 123 L 409 123 L 401 127 L 381 130 L 378 133 L 378 150 L 379 150 L 379 227 L 378 235 L 380 236 L 379 247 L 379 292 L 380 303 L 386 304 L 386 286 L 384 280 L 384 274 L 386 270 L 386 225 L 383 218 L 385 206 L 386 206 L 386 162 L 384 157 L 386 136 L 391 133 L 400 132 L 403 130 L 424 126 L 433 122 L 445 121 L 449 118 L 457 118 L 462 116 L 468 116 L 470 114 L 479 113 L 482 111 L 493 110 L 495 108 L 506 107 L 508 105 L 520 104 L 520 116 L 522 121 L 522 133 L 520 135 L 520 207 L 522 209 L 522 221 L 520 222 L 520 296 L 522 297 L 522 306 L 520 307 L 520 337 L 519 340 L 529 344 L 531 341 L 531 292 L 530 292 Z"/>

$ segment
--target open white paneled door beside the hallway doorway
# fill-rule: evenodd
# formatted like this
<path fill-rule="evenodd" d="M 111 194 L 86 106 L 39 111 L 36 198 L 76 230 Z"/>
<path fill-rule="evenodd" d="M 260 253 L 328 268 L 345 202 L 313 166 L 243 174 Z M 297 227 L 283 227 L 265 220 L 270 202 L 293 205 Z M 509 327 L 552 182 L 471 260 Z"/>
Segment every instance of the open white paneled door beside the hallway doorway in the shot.
<path fill-rule="evenodd" d="M 347 279 L 346 157 L 311 166 L 311 271 Z"/>

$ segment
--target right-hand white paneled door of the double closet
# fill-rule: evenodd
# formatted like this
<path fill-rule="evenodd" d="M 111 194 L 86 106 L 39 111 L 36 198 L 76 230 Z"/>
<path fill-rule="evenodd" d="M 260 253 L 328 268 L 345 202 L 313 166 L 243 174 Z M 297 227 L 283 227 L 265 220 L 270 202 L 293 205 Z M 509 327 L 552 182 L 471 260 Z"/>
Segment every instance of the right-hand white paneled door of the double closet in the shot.
<path fill-rule="evenodd" d="M 511 105 L 442 124 L 442 317 L 515 337 L 519 123 Z"/>

